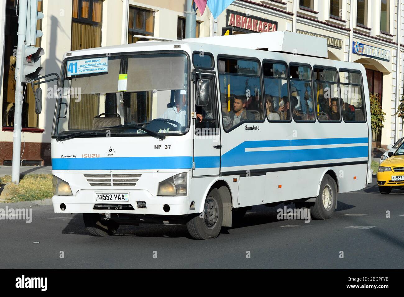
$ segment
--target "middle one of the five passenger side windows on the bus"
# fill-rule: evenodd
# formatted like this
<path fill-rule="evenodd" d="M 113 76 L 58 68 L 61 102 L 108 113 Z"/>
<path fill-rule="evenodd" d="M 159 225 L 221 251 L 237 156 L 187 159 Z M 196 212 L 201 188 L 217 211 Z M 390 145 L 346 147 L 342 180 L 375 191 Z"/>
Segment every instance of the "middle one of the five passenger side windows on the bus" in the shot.
<path fill-rule="evenodd" d="M 290 65 L 289 77 L 293 119 L 295 121 L 316 121 L 311 67 L 309 65 Z"/>

